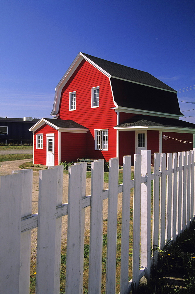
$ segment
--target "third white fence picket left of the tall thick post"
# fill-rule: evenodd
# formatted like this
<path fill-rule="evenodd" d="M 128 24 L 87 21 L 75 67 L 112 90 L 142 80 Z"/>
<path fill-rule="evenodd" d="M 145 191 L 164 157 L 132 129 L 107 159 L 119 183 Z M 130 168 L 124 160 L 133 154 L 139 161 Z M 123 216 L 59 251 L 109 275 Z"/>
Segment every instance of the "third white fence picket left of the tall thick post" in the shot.
<path fill-rule="evenodd" d="M 106 294 L 116 291 L 116 235 L 118 204 L 118 158 L 109 160 Z"/>

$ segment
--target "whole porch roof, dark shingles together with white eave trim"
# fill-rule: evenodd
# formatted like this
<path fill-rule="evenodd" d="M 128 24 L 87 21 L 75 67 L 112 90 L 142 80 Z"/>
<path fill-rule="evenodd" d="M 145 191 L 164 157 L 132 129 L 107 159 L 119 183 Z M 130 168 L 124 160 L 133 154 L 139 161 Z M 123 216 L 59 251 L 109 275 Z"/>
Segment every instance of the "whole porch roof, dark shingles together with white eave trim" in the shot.
<path fill-rule="evenodd" d="M 142 116 L 136 115 L 128 119 L 124 123 L 119 124 L 114 127 L 115 129 L 139 129 L 139 128 L 148 128 L 148 129 L 178 129 L 178 132 L 182 129 L 186 131 L 195 132 L 195 124 L 189 123 L 187 121 L 182 121 L 176 118 L 165 118 L 159 116 Z"/>

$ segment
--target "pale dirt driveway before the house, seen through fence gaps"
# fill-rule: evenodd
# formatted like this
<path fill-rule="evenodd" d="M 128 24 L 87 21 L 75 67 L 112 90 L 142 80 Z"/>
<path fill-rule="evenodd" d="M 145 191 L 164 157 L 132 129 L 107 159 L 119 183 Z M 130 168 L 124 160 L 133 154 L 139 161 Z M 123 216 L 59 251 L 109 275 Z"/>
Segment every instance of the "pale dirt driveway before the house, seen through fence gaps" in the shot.
<path fill-rule="evenodd" d="M 15 161 L 4 161 L 1 162 L 0 176 L 11 174 L 13 170 L 20 170 L 19 165 L 27 161 L 32 161 L 32 159 L 22 159 Z M 33 200 L 32 200 L 32 213 L 38 212 L 38 188 L 39 188 L 39 172 L 33 171 Z M 108 188 L 108 183 L 104 183 L 104 189 Z M 91 194 L 91 179 L 86 179 L 86 195 Z M 68 175 L 63 176 L 63 203 L 68 201 Z M 122 208 L 122 193 L 118 194 L 118 211 Z M 107 218 L 108 200 L 104 200 L 103 206 L 103 219 Z M 85 233 L 89 234 L 90 228 L 90 207 L 85 209 Z M 67 216 L 62 217 L 62 242 L 66 241 L 67 236 Z M 37 246 L 37 229 L 32 230 L 32 241 L 31 249 Z"/>

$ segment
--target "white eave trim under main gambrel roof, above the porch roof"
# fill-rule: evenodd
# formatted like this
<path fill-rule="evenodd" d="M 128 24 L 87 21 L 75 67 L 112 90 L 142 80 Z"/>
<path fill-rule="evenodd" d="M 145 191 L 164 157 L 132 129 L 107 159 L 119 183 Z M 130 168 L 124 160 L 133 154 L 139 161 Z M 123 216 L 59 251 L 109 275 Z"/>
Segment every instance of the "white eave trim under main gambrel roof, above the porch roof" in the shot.
<path fill-rule="evenodd" d="M 160 116 L 160 117 L 167 117 L 167 118 L 179 118 L 179 117 L 182 117 L 181 115 L 179 116 L 178 114 L 156 112 L 156 111 L 148 111 L 148 110 L 142 110 L 142 109 L 136 109 L 136 108 L 128 108 L 128 107 L 122 107 L 122 106 L 112 107 L 111 109 L 114 109 L 115 111 L 120 111 L 120 112 L 151 115 L 151 116 Z"/>

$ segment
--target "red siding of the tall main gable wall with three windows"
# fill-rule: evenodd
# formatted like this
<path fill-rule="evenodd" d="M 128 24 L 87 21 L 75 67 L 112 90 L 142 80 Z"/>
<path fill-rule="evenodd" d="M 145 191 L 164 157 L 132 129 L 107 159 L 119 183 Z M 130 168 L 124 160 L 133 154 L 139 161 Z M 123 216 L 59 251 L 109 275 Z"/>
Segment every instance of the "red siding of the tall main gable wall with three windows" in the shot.
<path fill-rule="evenodd" d="M 99 88 L 99 107 L 91 108 L 91 88 Z M 69 92 L 76 91 L 76 110 L 69 111 Z M 87 61 L 82 61 L 62 89 L 59 118 L 71 119 L 87 127 L 87 157 L 116 157 L 116 112 L 109 78 Z M 108 129 L 108 151 L 94 150 L 94 129 Z"/>

